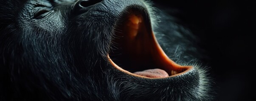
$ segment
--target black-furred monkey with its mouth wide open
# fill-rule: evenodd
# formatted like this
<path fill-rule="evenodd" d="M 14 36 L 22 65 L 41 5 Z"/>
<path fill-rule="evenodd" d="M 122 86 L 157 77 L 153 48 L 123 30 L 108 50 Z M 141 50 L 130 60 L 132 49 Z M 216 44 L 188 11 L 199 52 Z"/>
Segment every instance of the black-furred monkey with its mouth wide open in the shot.
<path fill-rule="evenodd" d="M 146 0 L 1 0 L 0 100 L 211 100 L 194 39 Z"/>

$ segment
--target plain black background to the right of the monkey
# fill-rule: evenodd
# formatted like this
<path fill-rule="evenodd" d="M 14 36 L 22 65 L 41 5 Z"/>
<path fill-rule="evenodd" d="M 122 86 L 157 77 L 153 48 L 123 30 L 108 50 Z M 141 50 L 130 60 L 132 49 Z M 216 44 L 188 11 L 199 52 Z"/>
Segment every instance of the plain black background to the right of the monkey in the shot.
<path fill-rule="evenodd" d="M 216 101 L 256 101 L 256 0 L 153 0 L 199 37 Z"/>

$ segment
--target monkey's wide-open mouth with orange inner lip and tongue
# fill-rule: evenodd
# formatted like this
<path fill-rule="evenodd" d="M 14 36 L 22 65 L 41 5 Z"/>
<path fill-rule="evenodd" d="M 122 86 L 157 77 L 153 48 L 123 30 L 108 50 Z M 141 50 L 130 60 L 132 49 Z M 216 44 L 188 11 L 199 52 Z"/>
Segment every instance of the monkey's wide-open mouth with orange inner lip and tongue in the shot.
<path fill-rule="evenodd" d="M 129 13 L 115 28 L 110 63 L 117 69 L 138 77 L 164 78 L 183 74 L 192 66 L 181 66 L 162 50 L 146 14 Z"/>

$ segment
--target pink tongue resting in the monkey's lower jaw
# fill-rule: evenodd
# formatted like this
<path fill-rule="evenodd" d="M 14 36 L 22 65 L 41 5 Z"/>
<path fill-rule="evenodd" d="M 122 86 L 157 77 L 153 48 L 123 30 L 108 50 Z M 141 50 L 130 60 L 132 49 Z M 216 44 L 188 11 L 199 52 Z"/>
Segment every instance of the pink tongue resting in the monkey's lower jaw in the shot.
<path fill-rule="evenodd" d="M 134 72 L 134 74 L 152 78 L 169 77 L 168 73 L 162 69 L 147 69 L 141 72 Z"/>

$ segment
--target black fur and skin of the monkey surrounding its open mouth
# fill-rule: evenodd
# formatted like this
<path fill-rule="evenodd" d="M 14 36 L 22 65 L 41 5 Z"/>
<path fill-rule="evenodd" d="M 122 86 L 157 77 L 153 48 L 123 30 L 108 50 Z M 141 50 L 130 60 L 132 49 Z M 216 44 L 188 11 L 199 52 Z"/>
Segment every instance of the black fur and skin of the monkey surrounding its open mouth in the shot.
<path fill-rule="evenodd" d="M 195 37 L 176 19 L 150 10 L 156 37 L 174 61 L 193 65 L 186 74 L 148 80 L 115 69 L 108 61 L 111 40 L 127 10 L 148 12 L 140 0 L 103 0 L 90 10 L 73 12 L 72 0 L 51 4 L 50 16 L 38 16 L 36 1 L 0 1 L 1 101 L 206 101 L 210 81 Z M 36 4 L 36 5 L 35 5 Z M 47 8 L 48 9 L 48 8 Z M 153 13 L 157 12 L 157 13 Z M 34 14 L 37 13 L 37 14 Z M 158 15 L 158 16 L 156 16 Z M 148 19 L 150 20 L 150 19 Z"/>

